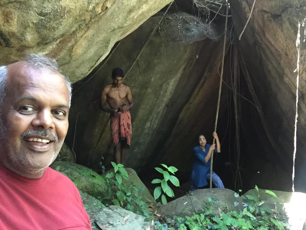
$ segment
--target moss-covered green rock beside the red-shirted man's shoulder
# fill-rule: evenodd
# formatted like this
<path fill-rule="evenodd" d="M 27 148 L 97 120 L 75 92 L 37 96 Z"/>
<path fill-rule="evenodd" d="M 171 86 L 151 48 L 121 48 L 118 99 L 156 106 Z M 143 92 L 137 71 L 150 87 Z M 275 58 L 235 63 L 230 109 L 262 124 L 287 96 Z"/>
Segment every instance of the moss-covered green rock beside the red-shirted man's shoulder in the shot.
<path fill-rule="evenodd" d="M 55 161 L 50 165 L 54 170 L 58 166 L 60 166 L 58 171 L 68 176 L 79 190 L 97 199 L 106 193 L 105 179 L 91 169 L 64 161 Z"/>

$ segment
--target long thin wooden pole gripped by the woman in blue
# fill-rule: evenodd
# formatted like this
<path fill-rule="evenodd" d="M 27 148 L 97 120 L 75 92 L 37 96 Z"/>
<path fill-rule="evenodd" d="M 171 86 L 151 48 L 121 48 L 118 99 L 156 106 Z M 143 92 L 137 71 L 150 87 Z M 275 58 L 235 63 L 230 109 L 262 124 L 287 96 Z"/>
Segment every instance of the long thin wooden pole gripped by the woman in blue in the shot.
<path fill-rule="evenodd" d="M 224 41 L 223 41 L 223 55 L 222 55 L 221 76 L 220 76 L 220 85 L 219 85 L 219 97 L 218 97 L 218 104 L 217 104 L 217 114 L 216 114 L 216 120 L 215 120 L 215 132 L 217 131 L 219 108 L 220 108 L 220 98 L 221 98 L 222 77 L 223 77 L 223 68 L 224 68 L 224 56 L 225 56 L 228 14 L 229 14 L 229 3 L 226 4 L 226 18 L 225 18 L 225 29 L 224 29 Z M 215 144 L 215 138 L 214 138 L 212 144 Z M 210 188 L 212 188 L 212 164 L 213 164 L 213 160 L 214 160 L 214 151 L 212 151 L 212 153 L 211 153 Z"/>

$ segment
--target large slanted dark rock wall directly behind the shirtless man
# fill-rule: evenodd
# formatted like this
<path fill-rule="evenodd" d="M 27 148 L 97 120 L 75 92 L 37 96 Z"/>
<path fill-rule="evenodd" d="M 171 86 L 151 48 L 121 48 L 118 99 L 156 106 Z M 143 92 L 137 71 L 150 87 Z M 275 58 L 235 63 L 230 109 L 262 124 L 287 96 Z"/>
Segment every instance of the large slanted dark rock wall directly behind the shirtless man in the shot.
<path fill-rule="evenodd" d="M 76 133 L 78 163 L 99 170 L 101 156 L 106 168 L 114 160 L 109 114 L 98 106 L 101 91 L 111 83 L 114 67 L 129 70 L 161 17 L 151 17 L 121 40 L 90 79 L 75 84 L 69 122 L 76 130 L 69 129 L 65 141 L 72 146 Z M 222 30 L 213 24 L 203 28 L 205 20 L 199 17 L 168 13 L 127 75 L 124 83 L 135 104 L 127 167 L 148 173 L 160 162 L 177 167 L 178 176 L 188 178 L 197 134 L 212 132 L 218 101 Z M 226 111 L 227 90 L 222 90 L 220 114 Z M 212 141 L 211 134 L 207 138 Z"/>

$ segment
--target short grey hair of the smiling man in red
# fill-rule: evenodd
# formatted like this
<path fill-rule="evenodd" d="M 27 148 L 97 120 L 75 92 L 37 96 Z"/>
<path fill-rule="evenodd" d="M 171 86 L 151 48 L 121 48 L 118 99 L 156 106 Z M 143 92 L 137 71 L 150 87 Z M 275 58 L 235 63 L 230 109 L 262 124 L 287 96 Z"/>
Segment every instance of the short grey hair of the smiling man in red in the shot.
<path fill-rule="evenodd" d="M 72 98 L 71 82 L 67 77 L 63 75 L 56 60 L 50 57 L 30 53 L 25 56 L 24 61 L 34 69 L 46 68 L 52 72 L 60 73 L 64 78 L 69 91 L 69 107 L 70 107 L 71 98 Z M 6 95 L 6 79 L 7 79 L 7 66 L 0 66 L 0 106 L 2 105 L 4 97 Z"/>

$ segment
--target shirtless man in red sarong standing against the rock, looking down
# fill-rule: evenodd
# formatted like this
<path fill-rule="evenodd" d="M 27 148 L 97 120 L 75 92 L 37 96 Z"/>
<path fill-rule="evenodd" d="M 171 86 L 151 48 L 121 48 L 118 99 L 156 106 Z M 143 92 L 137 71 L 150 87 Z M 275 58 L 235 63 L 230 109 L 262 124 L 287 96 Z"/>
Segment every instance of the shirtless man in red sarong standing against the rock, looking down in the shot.
<path fill-rule="evenodd" d="M 100 109 L 110 113 L 110 134 L 113 139 L 114 156 L 117 164 L 126 162 L 132 137 L 129 110 L 132 109 L 134 104 L 130 88 L 122 84 L 123 77 L 124 74 L 120 68 L 113 69 L 113 83 L 103 89 L 100 103 Z M 129 105 L 126 104 L 126 101 L 129 102 Z"/>

